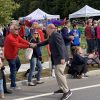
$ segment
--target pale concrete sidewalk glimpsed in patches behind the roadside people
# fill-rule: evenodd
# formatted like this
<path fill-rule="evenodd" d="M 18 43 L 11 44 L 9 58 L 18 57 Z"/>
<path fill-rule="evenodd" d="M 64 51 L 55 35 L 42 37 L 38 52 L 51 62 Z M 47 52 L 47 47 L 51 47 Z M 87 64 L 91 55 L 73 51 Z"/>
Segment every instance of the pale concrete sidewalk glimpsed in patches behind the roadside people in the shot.
<path fill-rule="evenodd" d="M 43 69 L 50 68 L 49 64 L 50 64 L 49 62 L 44 62 L 42 64 Z M 29 69 L 29 68 L 30 68 L 30 64 L 29 63 L 28 64 L 21 64 L 21 67 L 20 67 L 20 69 L 19 69 L 18 72 L 27 71 L 27 69 Z M 10 73 L 9 66 L 5 66 L 5 74 L 9 74 L 9 73 Z M 100 69 L 89 71 L 89 72 L 87 72 L 87 75 L 88 76 L 97 76 L 97 75 L 100 75 Z"/>

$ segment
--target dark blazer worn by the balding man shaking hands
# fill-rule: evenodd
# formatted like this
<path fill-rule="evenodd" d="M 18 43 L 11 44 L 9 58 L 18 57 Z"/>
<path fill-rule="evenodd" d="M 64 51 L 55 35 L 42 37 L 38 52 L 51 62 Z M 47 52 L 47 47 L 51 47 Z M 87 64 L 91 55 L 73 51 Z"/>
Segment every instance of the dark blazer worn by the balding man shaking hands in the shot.
<path fill-rule="evenodd" d="M 64 40 L 60 33 L 53 32 L 48 40 L 37 44 L 37 46 L 50 45 L 50 51 L 54 61 L 54 65 L 61 64 L 61 59 L 68 60 L 68 54 L 64 44 Z"/>

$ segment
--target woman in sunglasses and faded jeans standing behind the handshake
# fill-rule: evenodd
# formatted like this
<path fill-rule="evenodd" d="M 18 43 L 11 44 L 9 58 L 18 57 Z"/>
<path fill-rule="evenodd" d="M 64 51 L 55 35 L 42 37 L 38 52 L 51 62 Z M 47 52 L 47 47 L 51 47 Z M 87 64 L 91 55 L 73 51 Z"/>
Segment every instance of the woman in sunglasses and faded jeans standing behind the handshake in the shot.
<path fill-rule="evenodd" d="M 39 33 L 37 31 L 35 31 L 33 33 L 33 38 L 30 40 L 30 42 L 31 43 L 39 43 Z M 36 83 L 37 84 L 43 83 L 42 81 L 40 81 L 41 72 L 42 72 L 41 61 L 42 61 L 42 54 L 41 54 L 40 47 L 34 48 L 33 49 L 33 55 L 32 55 L 32 58 L 30 60 L 30 71 L 29 71 L 29 76 L 28 76 L 28 85 L 29 86 L 36 85 L 32 82 L 32 76 L 33 76 L 33 73 L 35 72 L 35 70 L 37 71 L 37 74 L 36 74 L 37 81 L 36 81 Z"/>

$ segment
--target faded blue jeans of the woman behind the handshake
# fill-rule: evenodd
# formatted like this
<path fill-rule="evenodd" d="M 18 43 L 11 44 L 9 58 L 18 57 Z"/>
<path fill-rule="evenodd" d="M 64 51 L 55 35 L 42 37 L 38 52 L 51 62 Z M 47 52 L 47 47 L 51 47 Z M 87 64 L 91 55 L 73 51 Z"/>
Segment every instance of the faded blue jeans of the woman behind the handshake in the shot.
<path fill-rule="evenodd" d="M 28 82 L 32 81 L 32 76 L 33 76 L 34 71 L 38 72 L 36 74 L 36 79 L 37 81 L 40 81 L 41 72 L 42 72 L 42 64 L 39 59 L 32 57 L 32 59 L 30 60 L 30 71 L 29 71 L 29 76 L 28 76 Z"/>

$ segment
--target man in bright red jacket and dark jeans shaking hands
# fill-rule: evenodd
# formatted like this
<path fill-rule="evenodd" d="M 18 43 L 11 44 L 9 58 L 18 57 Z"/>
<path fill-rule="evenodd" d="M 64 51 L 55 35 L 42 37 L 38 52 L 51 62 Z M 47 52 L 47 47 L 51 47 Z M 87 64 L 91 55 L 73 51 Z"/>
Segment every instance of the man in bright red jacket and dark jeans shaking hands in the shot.
<path fill-rule="evenodd" d="M 19 27 L 17 23 L 10 26 L 10 34 L 6 37 L 4 42 L 4 56 L 8 61 L 10 67 L 11 88 L 17 89 L 16 86 L 16 73 L 20 68 L 20 60 L 18 57 L 19 48 L 26 49 L 32 44 L 22 39 L 19 36 Z"/>

